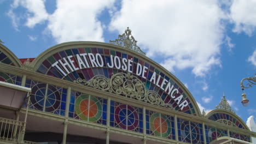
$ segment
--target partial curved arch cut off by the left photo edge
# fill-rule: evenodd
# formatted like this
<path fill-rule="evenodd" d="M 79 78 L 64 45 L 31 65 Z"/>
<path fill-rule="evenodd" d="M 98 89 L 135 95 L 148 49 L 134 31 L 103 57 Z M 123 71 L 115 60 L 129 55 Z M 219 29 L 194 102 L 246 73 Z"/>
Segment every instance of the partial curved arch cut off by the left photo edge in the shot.
<path fill-rule="evenodd" d="M 20 59 L 16 57 L 13 52 L 11 52 L 7 47 L 5 47 L 2 44 L 0 44 L 0 53 L 4 57 L 3 59 L 0 59 L 0 62 L 14 65 L 16 67 L 21 67 L 22 64 L 20 62 Z"/>

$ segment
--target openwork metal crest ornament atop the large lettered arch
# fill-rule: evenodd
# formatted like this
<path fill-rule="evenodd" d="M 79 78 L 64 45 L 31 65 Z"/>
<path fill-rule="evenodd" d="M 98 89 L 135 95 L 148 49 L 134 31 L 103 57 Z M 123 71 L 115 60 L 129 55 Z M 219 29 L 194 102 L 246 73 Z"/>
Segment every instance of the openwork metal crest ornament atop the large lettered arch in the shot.
<path fill-rule="evenodd" d="M 131 49 L 133 51 L 146 55 L 146 53 L 143 52 L 141 48 L 137 46 L 137 40 L 135 40 L 135 38 L 133 38 L 133 36 L 131 35 L 131 29 L 129 29 L 129 27 L 127 27 L 125 33 L 123 33 L 122 35 L 118 35 L 118 39 L 109 40 L 109 43 L 123 46 L 127 49 Z"/>

